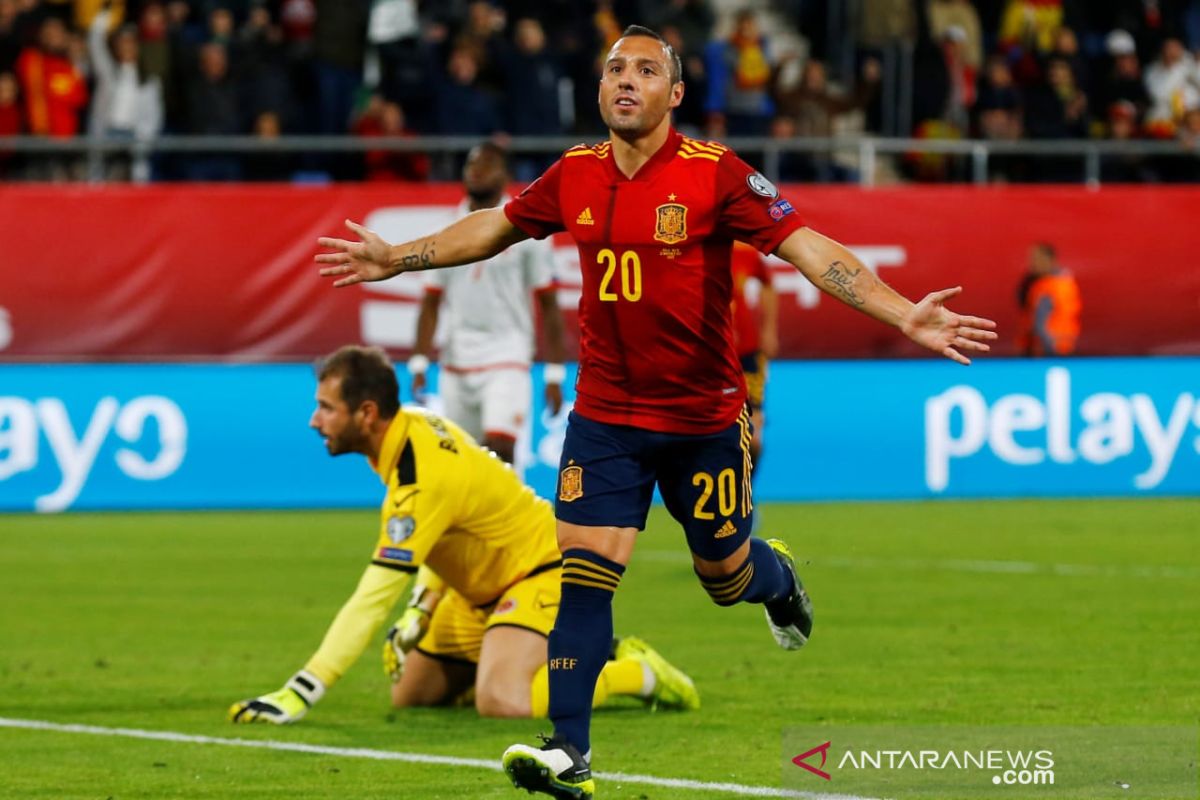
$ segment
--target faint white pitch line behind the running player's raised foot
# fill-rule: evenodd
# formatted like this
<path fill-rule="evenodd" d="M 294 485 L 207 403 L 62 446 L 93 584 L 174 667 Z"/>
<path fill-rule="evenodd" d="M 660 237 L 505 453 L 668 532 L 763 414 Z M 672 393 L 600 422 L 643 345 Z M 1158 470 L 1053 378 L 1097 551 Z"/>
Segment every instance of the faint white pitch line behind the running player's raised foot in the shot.
<path fill-rule="evenodd" d="M 690 564 L 686 551 L 646 551 L 634 554 L 637 561 Z M 1200 578 L 1200 569 L 1153 564 L 1044 564 L 1039 561 L 1003 561 L 985 559 L 876 559 L 830 555 L 806 560 L 802 566 L 832 566 L 850 570 L 937 570 L 942 572 L 984 572 L 991 575 L 1061 575 L 1103 578 Z"/>

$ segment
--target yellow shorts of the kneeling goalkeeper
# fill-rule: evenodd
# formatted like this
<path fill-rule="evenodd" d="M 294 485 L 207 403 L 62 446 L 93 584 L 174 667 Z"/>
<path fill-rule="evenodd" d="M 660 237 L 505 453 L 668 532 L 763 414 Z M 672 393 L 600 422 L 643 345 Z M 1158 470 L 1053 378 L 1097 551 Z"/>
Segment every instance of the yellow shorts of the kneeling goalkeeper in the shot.
<path fill-rule="evenodd" d="M 546 565 L 484 607 L 472 606 L 457 591 L 446 590 L 416 650 L 440 661 L 478 664 L 484 634 L 493 627 L 508 625 L 550 636 L 558 615 L 562 577 L 560 564 Z"/>

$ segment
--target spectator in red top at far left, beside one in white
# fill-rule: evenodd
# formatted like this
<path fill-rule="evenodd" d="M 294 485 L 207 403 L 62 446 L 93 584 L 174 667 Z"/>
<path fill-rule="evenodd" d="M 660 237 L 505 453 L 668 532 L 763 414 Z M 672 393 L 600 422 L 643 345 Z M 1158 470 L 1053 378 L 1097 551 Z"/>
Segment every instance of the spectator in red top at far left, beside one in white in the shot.
<path fill-rule="evenodd" d="M 71 137 L 79 132 L 79 113 L 88 103 L 88 86 L 68 59 L 66 25 L 58 17 L 42 20 L 37 46 L 17 59 L 17 76 L 25 98 L 30 133 Z"/>

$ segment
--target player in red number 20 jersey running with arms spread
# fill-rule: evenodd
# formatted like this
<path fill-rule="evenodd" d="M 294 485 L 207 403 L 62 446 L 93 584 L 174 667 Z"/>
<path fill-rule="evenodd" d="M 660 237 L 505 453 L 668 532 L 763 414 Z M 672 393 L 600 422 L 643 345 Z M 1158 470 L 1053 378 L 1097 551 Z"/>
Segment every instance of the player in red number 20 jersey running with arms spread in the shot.
<path fill-rule="evenodd" d="M 581 353 L 556 516 L 563 593 L 550 634 L 550 717 L 541 748 L 504 753 L 512 782 L 592 798 L 592 691 L 612 638 L 612 597 L 658 483 L 683 525 L 701 584 L 720 606 L 762 603 L 776 642 L 798 649 L 812 607 L 786 546 L 750 535 L 750 426 L 732 342 L 730 251 L 742 240 L 960 363 L 995 323 L 948 308 L 961 288 L 913 303 L 848 249 L 804 225 L 775 187 L 728 149 L 671 126 L 679 59 L 654 31 L 625 30 L 600 80 L 608 140 L 563 154 L 503 209 L 402 245 L 347 221 L 359 241 L 322 237 L 335 287 L 491 258 L 569 230 L 580 248 Z"/>

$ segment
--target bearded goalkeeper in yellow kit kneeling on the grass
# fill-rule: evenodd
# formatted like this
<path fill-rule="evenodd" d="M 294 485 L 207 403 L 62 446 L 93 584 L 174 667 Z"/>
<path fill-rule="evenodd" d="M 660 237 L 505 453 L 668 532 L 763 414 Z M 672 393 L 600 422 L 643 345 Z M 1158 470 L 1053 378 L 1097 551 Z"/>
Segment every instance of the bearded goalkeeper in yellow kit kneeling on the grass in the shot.
<path fill-rule="evenodd" d="M 382 350 L 344 347 L 318 380 L 310 425 L 330 455 L 365 455 L 388 487 L 379 542 L 308 663 L 283 688 L 234 703 L 229 718 L 301 718 L 362 655 L 414 575 L 384 643 L 392 705 L 450 704 L 473 688 L 484 716 L 545 716 L 563 569 L 550 504 L 452 422 L 402 409 Z M 700 706 L 691 679 L 632 637 L 614 642 L 594 704 L 612 694 Z"/>

